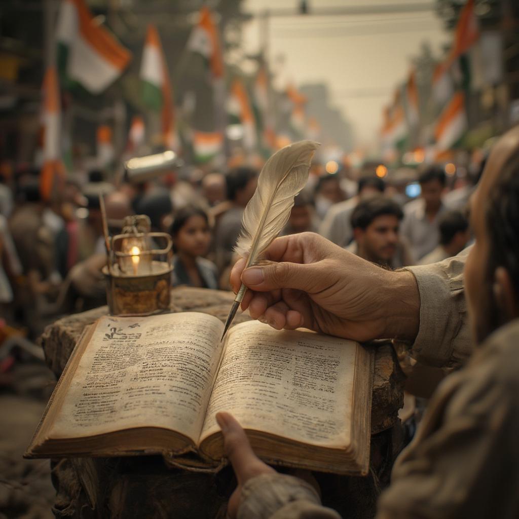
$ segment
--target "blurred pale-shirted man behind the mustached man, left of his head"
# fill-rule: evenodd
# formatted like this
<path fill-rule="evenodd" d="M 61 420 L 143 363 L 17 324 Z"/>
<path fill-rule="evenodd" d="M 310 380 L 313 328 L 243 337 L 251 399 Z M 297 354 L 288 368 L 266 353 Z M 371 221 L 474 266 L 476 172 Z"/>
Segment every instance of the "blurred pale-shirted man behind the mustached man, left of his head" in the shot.
<path fill-rule="evenodd" d="M 386 184 L 378 176 L 363 176 L 359 180 L 357 195 L 332 206 L 319 227 L 319 234 L 340 247 L 346 247 L 353 239 L 351 213 L 366 196 L 384 193 Z"/>

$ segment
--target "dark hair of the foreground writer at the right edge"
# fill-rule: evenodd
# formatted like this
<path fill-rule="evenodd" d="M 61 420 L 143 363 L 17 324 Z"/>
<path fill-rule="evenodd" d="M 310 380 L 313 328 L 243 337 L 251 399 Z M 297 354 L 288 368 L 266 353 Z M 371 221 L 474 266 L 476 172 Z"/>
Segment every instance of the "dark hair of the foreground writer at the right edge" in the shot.
<path fill-rule="evenodd" d="M 519 294 L 519 149 L 504 163 L 486 201 L 490 279 L 504 267 Z"/>

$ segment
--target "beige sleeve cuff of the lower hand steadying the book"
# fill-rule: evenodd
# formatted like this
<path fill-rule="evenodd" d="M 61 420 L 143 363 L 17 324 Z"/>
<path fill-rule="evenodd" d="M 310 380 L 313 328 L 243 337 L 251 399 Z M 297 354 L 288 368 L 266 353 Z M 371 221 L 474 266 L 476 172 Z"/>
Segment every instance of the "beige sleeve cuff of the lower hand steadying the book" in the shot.
<path fill-rule="evenodd" d="M 262 474 L 241 491 L 238 519 L 340 519 L 337 512 L 321 506 L 317 491 L 297 477 Z"/>

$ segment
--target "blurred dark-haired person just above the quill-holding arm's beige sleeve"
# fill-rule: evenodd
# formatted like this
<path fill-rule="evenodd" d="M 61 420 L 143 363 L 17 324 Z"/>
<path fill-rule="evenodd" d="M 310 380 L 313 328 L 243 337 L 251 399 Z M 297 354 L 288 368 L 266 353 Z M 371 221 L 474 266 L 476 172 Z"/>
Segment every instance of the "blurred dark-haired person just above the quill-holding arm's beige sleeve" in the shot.
<path fill-rule="evenodd" d="M 438 220 L 440 243 L 420 260 L 420 265 L 436 263 L 456 256 L 465 249 L 469 239 L 469 221 L 461 211 L 446 211 Z"/>

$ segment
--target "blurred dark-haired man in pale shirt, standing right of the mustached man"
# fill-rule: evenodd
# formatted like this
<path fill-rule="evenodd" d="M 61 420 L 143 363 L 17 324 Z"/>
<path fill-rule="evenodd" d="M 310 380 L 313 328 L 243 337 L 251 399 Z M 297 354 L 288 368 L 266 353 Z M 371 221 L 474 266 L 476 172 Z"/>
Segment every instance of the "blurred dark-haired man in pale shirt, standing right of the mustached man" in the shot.
<path fill-rule="evenodd" d="M 420 260 L 440 240 L 438 219 L 445 210 L 442 202 L 445 171 L 440 166 L 430 166 L 420 174 L 418 182 L 421 188 L 420 198 L 404 207 L 402 235 L 411 244 L 414 256 Z"/>

